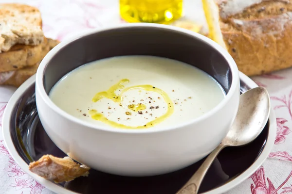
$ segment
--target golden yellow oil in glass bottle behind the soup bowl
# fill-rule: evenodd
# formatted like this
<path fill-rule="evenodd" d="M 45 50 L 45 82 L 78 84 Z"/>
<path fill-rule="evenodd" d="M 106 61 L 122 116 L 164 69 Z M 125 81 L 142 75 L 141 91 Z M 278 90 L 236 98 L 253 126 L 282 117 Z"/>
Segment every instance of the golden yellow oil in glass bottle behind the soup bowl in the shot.
<path fill-rule="evenodd" d="M 169 24 L 183 15 L 183 0 L 120 0 L 127 22 Z"/>

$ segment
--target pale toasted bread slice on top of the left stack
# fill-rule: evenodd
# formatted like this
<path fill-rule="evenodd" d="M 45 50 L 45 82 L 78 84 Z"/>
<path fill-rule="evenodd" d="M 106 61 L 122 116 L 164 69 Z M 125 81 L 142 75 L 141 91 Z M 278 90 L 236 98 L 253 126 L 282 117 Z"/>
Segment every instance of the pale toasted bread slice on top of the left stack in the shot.
<path fill-rule="evenodd" d="M 18 4 L 0 4 L 0 52 L 16 44 L 38 45 L 43 42 L 42 20 L 37 8 Z"/>

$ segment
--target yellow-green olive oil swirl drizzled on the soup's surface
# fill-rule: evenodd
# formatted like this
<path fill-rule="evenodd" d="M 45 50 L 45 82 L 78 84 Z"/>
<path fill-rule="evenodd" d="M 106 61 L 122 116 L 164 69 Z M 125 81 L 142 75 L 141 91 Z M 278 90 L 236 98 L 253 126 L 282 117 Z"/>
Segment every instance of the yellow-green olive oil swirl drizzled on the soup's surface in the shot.
<path fill-rule="evenodd" d="M 169 117 L 174 112 L 173 102 L 170 99 L 170 97 L 168 97 L 168 95 L 163 90 L 161 90 L 157 87 L 154 87 L 152 85 L 137 85 L 137 86 L 131 86 L 131 87 L 125 88 L 124 84 L 127 84 L 127 83 L 129 83 L 128 79 L 123 79 L 123 80 L 119 81 L 117 84 L 114 84 L 113 86 L 111 86 L 109 90 L 97 93 L 92 98 L 92 101 L 97 102 L 98 100 L 105 97 L 105 98 L 112 100 L 113 102 L 122 104 L 123 94 L 125 92 L 128 92 L 130 90 L 146 90 L 146 91 L 150 91 L 150 92 L 156 92 L 163 97 L 165 103 L 167 104 L 166 113 L 164 113 L 162 116 L 157 117 L 154 120 L 146 123 L 145 125 L 135 126 L 135 127 L 123 125 L 123 124 L 117 123 L 115 121 L 109 120 L 107 117 L 104 116 L 103 113 L 99 113 L 97 110 L 94 110 L 94 109 L 89 111 L 91 118 L 94 120 L 98 120 L 98 121 L 101 121 L 103 123 L 106 123 L 106 124 L 108 124 L 112 127 L 115 127 L 115 128 L 145 129 L 145 128 L 150 128 L 150 127 L 153 127 L 154 125 L 161 123 L 162 121 L 164 121 L 167 117 Z M 119 95 L 116 95 L 115 94 L 116 90 L 121 90 L 121 93 Z M 142 104 L 142 103 L 138 103 L 137 105 L 130 104 L 130 105 L 128 105 L 128 109 L 130 109 L 134 112 L 137 112 L 137 111 L 145 110 L 146 105 Z"/>

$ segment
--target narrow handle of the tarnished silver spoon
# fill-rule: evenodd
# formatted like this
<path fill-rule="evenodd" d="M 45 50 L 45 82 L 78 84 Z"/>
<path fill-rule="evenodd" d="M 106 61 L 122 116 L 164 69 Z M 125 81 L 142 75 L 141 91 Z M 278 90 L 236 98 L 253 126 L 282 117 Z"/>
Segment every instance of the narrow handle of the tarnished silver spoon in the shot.
<path fill-rule="evenodd" d="M 176 194 L 198 194 L 199 187 L 203 178 L 205 177 L 208 169 L 213 163 L 219 152 L 226 147 L 225 144 L 220 144 L 216 149 L 214 149 L 206 160 L 201 164 L 200 168 L 196 173 L 183 185 L 183 187 Z"/>

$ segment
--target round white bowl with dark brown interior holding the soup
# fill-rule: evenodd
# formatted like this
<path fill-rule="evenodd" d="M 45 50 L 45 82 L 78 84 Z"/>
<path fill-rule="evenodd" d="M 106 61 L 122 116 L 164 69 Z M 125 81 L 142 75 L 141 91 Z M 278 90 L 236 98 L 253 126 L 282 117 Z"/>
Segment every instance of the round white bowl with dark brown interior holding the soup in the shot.
<path fill-rule="evenodd" d="M 218 81 L 226 96 L 198 118 L 156 129 L 94 125 L 61 110 L 48 96 L 57 81 L 80 65 L 125 55 L 196 66 Z M 123 24 L 84 32 L 52 49 L 37 70 L 36 101 L 47 134 L 74 160 L 111 174 L 153 176 L 197 162 L 220 144 L 237 113 L 239 72 L 229 53 L 201 34 L 167 25 Z"/>

